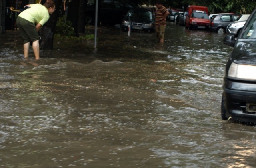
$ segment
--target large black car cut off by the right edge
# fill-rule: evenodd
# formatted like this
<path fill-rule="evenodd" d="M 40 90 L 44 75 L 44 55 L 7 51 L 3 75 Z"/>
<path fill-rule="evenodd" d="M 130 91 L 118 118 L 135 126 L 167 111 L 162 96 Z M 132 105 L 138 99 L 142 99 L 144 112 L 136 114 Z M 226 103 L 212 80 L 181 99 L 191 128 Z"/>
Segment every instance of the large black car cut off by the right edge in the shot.
<path fill-rule="evenodd" d="M 256 10 L 237 39 L 227 35 L 224 44 L 234 47 L 226 63 L 221 117 L 256 123 Z"/>

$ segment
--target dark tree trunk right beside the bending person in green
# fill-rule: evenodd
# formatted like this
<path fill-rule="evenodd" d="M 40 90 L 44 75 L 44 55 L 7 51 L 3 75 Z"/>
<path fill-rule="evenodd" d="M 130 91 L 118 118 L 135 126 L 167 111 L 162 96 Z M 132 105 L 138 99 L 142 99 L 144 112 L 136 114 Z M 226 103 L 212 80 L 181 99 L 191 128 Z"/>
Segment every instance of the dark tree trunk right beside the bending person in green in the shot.
<path fill-rule="evenodd" d="M 49 20 L 44 24 L 42 30 L 40 31 L 40 49 L 43 50 L 52 50 L 53 49 L 53 40 L 55 34 L 55 27 L 60 15 L 60 5 L 62 0 L 54 0 L 55 2 L 55 12 L 50 15 Z"/>

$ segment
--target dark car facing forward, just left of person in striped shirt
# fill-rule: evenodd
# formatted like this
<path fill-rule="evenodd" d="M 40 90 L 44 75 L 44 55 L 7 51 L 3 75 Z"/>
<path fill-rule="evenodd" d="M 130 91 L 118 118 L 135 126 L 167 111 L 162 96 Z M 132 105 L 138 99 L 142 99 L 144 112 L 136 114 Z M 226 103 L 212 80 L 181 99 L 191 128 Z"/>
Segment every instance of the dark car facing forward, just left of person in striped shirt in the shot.
<path fill-rule="evenodd" d="M 132 31 L 154 32 L 154 14 L 146 8 L 133 8 L 127 12 L 122 20 L 122 30 L 128 30 L 130 24 Z"/>

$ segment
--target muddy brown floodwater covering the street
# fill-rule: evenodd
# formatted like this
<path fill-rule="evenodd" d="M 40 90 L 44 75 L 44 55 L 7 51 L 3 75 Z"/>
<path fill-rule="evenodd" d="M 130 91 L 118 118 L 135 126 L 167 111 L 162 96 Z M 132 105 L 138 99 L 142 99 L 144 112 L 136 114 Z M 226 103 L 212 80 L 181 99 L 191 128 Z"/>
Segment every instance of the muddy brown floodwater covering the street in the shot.
<path fill-rule="evenodd" d="M 220 118 L 224 36 L 105 27 L 96 49 L 55 40 L 35 61 L 0 35 L 0 167 L 255 167 L 256 127 Z"/>

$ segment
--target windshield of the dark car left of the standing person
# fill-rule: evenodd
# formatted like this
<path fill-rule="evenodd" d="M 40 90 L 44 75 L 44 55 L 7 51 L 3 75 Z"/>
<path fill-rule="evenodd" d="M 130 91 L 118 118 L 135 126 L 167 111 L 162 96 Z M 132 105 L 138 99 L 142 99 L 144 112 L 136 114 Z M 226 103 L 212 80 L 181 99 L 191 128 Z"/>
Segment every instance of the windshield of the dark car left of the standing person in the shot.
<path fill-rule="evenodd" d="M 146 10 L 133 10 L 130 11 L 126 14 L 126 17 L 128 18 L 130 16 L 130 19 L 137 19 L 139 18 L 140 20 L 149 20 L 152 21 L 153 20 L 153 14 L 150 11 L 146 11 Z"/>

